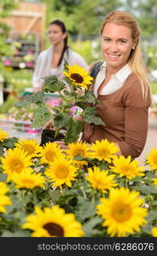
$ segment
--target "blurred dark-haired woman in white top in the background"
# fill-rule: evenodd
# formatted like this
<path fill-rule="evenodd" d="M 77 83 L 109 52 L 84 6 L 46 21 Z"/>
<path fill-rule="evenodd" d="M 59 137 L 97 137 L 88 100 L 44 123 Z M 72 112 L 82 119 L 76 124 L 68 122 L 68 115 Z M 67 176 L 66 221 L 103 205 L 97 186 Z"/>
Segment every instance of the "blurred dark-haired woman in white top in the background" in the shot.
<path fill-rule="evenodd" d="M 67 29 L 61 20 L 53 20 L 49 23 L 48 35 L 52 46 L 49 49 L 43 50 L 38 55 L 32 76 L 32 86 L 35 92 L 41 90 L 44 83 L 43 77 L 56 75 L 58 79 L 61 79 L 65 60 L 71 66 L 76 63 L 87 71 L 89 70 L 89 66 L 84 61 L 84 58 L 68 47 Z"/>

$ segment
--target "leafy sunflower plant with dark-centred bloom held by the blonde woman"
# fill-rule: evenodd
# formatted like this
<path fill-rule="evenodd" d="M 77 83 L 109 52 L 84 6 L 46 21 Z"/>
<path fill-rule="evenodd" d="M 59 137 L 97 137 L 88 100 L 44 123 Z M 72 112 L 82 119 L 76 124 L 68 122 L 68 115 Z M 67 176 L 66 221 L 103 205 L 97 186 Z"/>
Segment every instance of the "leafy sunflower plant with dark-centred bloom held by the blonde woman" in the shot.
<path fill-rule="evenodd" d="M 79 67 L 77 64 L 69 66 L 66 62 L 61 81 L 55 75 L 43 79 L 42 90 L 17 103 L 18 106 L 28 105 L 32 102 L 37 104 L 38 108 L 34 112 L 32 128 L 43 127 L 53 119 L 55 131 L 51 130 L 49 133 L 53 132 L 53 136 L 57 140 L 61 138 L 66 144 L 73 143 L 84 129 L 83 122 L 73 119 L 73 108 L 77 108 L 85 122 L 105 125 L 102 119 L 96 116 L 95 105 L 101 102 L 98 102 L 96 96 L 88 90 L 93 78 L 83 67 Z M 47 93 L 52 96 L 57 93 L 61 97 L 60 104 L 58 106 L 46 104 L 44 97 Z M 65 129 L 64 135 L 61 134 L 63 129 Z"/>

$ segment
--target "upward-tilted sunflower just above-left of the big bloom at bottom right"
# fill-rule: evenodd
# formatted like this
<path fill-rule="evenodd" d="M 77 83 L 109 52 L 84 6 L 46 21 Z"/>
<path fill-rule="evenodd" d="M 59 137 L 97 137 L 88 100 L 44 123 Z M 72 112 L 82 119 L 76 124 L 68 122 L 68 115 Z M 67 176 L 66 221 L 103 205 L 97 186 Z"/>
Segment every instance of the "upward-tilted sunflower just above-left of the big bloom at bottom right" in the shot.
<path fill-rule="evenodd" d="M 114 180 L 115 175 L 108 175 L 108 171 L 101 171 L 99 167 L 94 166 L 94 170 L 88 169 L 88 176 L 85 177 L 94 189 L 107 193 L 108 189 L 112 189 L 118 184 Z"/>

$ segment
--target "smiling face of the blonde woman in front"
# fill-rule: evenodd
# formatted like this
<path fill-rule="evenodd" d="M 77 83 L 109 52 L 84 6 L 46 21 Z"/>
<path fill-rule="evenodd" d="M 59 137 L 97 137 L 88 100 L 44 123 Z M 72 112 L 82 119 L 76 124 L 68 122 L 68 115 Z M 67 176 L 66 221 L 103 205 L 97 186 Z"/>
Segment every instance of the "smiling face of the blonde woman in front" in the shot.
<path fill-rule="evenodd" d="M 108 22 L 102 30 L 101 45 L 107 66 L 116 73 L 125 66 L 136 43 L 131 37 L 129 27 Z"/>

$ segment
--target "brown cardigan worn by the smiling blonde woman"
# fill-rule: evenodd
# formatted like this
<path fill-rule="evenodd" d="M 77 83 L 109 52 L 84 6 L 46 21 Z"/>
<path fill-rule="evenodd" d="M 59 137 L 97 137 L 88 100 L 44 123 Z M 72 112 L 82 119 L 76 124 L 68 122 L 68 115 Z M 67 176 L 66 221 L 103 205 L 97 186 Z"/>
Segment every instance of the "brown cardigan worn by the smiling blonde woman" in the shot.
<path fill-rule="evenodd" d="M 90 86 L 93 90 L 93 85 Z M 144 148 L 148 132 L 148 107 L 143 100 L 142 86 L 137 75 L 131 73 L 125 84 L 110 95 L 98 96 L 103 104 L 96 105 L 97 116 L 106 126 L 85 123 L 82 140 L 95 143 L 108 139 L 118 143 L 121 153 L 127 157 L 138 157 Z"/>

